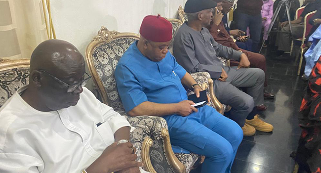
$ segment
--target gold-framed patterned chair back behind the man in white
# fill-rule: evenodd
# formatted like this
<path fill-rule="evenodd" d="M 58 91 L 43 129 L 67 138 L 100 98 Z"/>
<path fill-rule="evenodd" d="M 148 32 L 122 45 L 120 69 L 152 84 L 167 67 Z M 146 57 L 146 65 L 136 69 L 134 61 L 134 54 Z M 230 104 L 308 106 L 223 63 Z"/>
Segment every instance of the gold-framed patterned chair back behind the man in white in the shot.
<path fill-rule="evenodd" d="M 0 59 L 0 107 L 17 89 L 29 84 L 29 59 Z"/>

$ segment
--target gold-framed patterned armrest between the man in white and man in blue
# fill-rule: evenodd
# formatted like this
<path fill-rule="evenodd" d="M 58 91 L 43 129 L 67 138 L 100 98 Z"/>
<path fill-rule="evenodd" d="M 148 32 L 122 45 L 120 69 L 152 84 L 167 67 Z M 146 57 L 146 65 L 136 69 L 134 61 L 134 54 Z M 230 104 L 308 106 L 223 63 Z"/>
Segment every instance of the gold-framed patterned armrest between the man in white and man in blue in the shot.
<path fill-rule="evenodd" d="M 161 170 L 165 170 L 165 173 L 185 173 L 185 166 L 172 150 L 165 119 L 154 116 L 129 117 L 123 111 L 119 113 L 136 128 L 130 134 L 130 141 L 136 149 L 141 146 L 140 153 L 136 151 L 136 154 L 140 154 L 145 170 L 150 173 Z"/>

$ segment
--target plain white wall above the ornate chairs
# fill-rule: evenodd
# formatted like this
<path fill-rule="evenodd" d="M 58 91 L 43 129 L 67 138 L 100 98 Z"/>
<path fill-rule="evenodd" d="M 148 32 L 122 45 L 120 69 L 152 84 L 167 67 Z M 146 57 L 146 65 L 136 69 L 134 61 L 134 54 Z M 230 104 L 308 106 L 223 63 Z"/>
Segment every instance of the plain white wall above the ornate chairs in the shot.
<path fill-rule="evenodd" d="M 139 33 L 146 15 L 176 17 L 186 0 L 51 0 L 57 39 L 73 43 L 83 53 L 103 25 L 109 30 Z"/>

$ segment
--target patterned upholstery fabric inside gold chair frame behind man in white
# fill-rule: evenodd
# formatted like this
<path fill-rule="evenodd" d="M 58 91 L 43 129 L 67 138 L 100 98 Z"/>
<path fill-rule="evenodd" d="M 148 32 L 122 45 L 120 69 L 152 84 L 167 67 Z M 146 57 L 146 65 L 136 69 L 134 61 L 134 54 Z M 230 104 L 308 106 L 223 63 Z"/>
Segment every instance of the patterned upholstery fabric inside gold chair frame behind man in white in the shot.
<path fill-rule="evenodd" d="M 29 84 L 29 67 L 0 72 L 0 107 L 20 87 Z"/>

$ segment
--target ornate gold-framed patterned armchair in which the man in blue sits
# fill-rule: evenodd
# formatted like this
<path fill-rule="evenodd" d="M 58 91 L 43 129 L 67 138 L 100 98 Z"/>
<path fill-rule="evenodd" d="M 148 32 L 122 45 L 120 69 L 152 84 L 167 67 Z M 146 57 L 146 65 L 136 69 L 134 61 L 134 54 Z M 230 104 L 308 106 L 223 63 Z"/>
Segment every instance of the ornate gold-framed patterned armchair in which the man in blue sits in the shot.
<path fill-rule="evenodd" d="M 125 116 L 131 126 L 140 129 L 137 134 L 133 134 L 131 142 L 140 150 L 136 154 L 141 156 L 145 165 L 144 169 L 151 173 L 189 173 L 199 156 L 173 153 L 167 123 L 163 118 L 153 116 L 129 117 L 124 112 L 114 71 L 122 54 L 139 37 L 134 33 L 119 33 L 102 27 L 86 49 L 89 71 L 98 87 L 102 101 Z M 208 73 L 195 73 L 192 76 L 201 84 L 202 88 L 208 90 L 208 93 L 213 90 L 213 86 L 209 87 L 208 85 L 213 83 Z M 190 90 L 188 92 L 192 93 Z M 212 100 L 213 96 L 215 97 L 211 94 Z M 213 103 L 216 104 L 215 101 Z M 213 103 L 210 104 L 213 105 Z"/>

